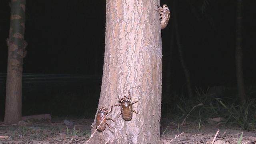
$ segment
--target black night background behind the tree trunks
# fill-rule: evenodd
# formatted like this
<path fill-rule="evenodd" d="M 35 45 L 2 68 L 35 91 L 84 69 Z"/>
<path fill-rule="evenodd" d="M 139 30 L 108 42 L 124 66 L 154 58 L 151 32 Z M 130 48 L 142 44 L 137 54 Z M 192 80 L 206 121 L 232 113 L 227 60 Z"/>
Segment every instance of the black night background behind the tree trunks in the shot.
<path fill-rule="evenodd" d="M 0 0 L 0 73 L 6 73 L 7 68 L 8 2 Z M 180 41 L 193 88 L 236 87 L 236 0 L 210 1 L 204 14 L 201 11 L 203 0 L 176 0 L 175 5 L 171 0 L 160 3 L 167 4 L 171 13 L 177 15 Z M 176 11 L 173 11 L 174 6 Z M 244 0 L 242 48 L 246 88 L 256 84 L 255 6 L 255 0 Z M 23 73 L 82 74 L 101 79 L 105 7 L 104 0 L 26 0 L 25 40 L 28 42 L 28 54 L 24 58 Z M 186 91 L 172 21 L 171 18 L 167 28 L 162 30 L 163 95 L 169 59 L 170 91 L 178 94 Z M 24 88 L 23 115 L 50 113 L 93 117 L 101 81 L 88 79 L 84 83 L 66 87 Z M 4 86 L 0 90 L 1 119 Z"/>

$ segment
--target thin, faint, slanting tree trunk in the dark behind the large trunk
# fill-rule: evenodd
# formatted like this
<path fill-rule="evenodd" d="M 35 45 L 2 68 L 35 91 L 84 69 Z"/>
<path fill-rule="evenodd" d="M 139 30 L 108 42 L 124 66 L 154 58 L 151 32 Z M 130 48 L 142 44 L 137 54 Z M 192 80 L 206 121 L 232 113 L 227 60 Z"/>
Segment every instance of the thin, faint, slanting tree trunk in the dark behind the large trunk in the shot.
<path fill-rule="evenodd" d="M 175 0 L 174 0 L 175 1 Z M 184 60 L 184 56 L 182 53 L 182 45 L 180 42 L 180 34 L 179 34 L 179 29 L 178 29 L 178 19 L 177 19 L 177 10 L 176 10 L 176 5 L 175 2 L 173 1 L 173 6 L 174 6 L 174 27 L 175 27 L 175 33 L 176 33 L 176 40 L 177 40 L 177 46 L 178 46 L 178 52 L 179 52 L 179 56 L 180 56 L 180 63 L 182 65 L 185 77 L 186 77 L 186 86 L 188 89 L 188 96 L 191 98 L 193 96 L 193 91 L 192 91 L 192 86 L 191 86 L 191 79 L 190 79 L 190 72 L 186 66 L 185 60 Z"/>

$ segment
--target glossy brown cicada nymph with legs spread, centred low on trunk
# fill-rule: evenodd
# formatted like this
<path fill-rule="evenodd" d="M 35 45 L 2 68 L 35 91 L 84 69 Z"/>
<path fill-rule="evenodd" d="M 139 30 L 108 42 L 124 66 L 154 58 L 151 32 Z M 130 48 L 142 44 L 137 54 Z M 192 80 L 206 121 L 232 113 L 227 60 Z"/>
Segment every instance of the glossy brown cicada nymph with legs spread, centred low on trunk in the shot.
<path fill-rule="evenodd" d="M 121 114 L 124 120 L 127 120 L 127 121 L 131 120 L 132 112 L 135 112 L 136 114 L 138 114 L 138 112 L 132 109 L 132 104 L 135 104 L 136 102 L 138 102 L 138 100 L 136 102 L 132 102 L 130 98 L 130 92 L 129 92 L 129 97 L 124 96 L 121 100 L 118 97 L 118 100 L 119 100 L 119 104 L 115 104 L 115 106 L 121 106 Z"/>

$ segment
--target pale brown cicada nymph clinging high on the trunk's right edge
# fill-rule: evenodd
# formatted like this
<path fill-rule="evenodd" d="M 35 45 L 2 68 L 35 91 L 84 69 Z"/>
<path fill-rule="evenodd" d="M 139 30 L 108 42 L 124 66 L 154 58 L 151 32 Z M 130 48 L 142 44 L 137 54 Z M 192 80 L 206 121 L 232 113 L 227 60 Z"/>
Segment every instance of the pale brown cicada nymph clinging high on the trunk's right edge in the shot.
<path fill-rule="evenodd" d="M 166 26 L 168 25 L 170 16 L 171 16 L 171 13 L 170 13 L 170 10 L 169 10 L 168 6 L 166 6 L 166 4 L 164 4 L 163 7 L 162 6 L 158 6 L 158 10 L 156 10 L 156 11 L 158 11 L 159 14 L 161 15 L 160 16 L 160 20 L 161 20 L 160 26 L 161 26 L 161 29 L 166 28 Z"/>

